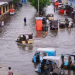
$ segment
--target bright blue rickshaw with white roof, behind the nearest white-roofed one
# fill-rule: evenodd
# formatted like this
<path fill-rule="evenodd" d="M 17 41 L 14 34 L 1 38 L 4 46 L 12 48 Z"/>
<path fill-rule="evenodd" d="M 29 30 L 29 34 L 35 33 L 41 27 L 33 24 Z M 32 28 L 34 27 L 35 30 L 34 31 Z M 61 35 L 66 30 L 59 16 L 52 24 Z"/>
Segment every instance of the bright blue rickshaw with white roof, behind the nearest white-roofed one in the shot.
<path fill-rule="evenodd" d="M 42 60 L 43 56 L 56 56 L 56 50 L 54 48 L 38 48 L 32 61 L 38 63 Z"/>

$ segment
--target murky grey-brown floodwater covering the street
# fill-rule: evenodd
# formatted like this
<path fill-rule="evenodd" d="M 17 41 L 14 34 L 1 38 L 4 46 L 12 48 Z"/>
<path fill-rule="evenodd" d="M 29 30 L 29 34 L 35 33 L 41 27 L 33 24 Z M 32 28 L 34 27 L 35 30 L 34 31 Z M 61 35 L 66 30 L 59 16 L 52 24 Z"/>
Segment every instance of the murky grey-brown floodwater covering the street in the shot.
<path fill-rule="evenodd" d="M 54 13 L 53 5 L 48 6 L 46 14 Z M 29 4 L 16 8 L 15 15 L 5 18 L 5 25 L 0 27 L 0 64 L 11 66 L 14 72 L 21 75 L 38 75 L 35 72 L 36 66 L 32 58 L 37 48 L 51 47 L 56 49 L 57 56 L 62 53 L 72 53 L 75 51 L 75 28 L 71 31 L 58 29 L 58 31 L 48 30 L 46 37 L 42 37 L 41 31 L 35 30 L 36 10 Z M 55 19 L 64 18 L 59 11 L 54 13 Z M 27 25 L 24 25 L 23 18 L 27 18 Z M 22 46 L 15 41 L 19 34 L 33 33 L 33 45 Z M 73 71 L 65 71 L 65 75 L 75 75 Z"/>

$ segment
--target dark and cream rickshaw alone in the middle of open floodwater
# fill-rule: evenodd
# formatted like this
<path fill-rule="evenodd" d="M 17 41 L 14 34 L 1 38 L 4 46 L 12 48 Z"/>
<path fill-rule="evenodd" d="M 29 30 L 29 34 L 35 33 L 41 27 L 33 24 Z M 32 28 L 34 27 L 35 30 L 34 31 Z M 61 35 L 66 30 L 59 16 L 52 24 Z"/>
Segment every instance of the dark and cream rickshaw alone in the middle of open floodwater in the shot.
<path fill-rule="evenodd" d="M 16 40 L 17 43 L 26 45 L 33 44 L 33 33 L 31 34 L 20 34 Z"/>

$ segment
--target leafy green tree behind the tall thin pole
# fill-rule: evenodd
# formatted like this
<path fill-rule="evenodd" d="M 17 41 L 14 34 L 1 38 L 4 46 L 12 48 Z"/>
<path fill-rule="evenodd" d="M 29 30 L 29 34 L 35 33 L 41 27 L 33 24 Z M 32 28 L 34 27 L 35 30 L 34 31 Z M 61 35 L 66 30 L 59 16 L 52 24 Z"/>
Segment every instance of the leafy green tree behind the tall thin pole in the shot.
<path fill-rule="evenodd" d="M 36 10 L 38 10 L 38 0 L 29 0 L 31 2 L 31 5 L 35 7 Z M 50 5 L 50 0 L 39 0 L 39 11 L 42 11 L 46 5 Z"/>

